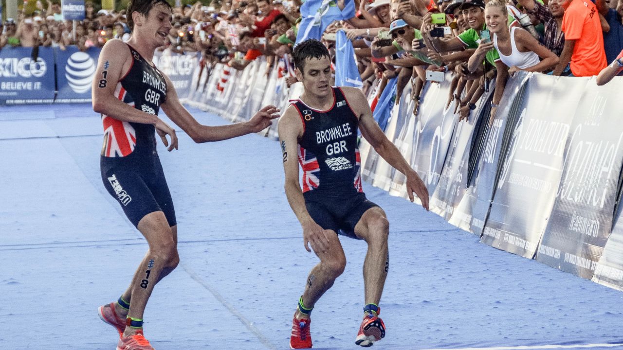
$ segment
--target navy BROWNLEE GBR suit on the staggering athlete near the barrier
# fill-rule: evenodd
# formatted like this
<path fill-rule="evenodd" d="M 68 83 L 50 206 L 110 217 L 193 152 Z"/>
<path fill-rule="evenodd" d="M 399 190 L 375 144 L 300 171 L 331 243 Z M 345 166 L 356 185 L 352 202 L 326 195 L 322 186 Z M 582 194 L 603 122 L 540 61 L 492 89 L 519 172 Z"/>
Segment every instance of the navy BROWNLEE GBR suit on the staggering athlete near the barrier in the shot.
<path fill-rule="evenodd" d="M 303 121 L 298 163 L 303 169 L 305 206 L 325 230 L 357 238 L 354 227 L 366 210 L 378 207 L 361 189 L 357 148 L 359 119 L 339 87 L 332 87 L 333 105 L 319 111 L 301 100 L 292 104 Z"/>

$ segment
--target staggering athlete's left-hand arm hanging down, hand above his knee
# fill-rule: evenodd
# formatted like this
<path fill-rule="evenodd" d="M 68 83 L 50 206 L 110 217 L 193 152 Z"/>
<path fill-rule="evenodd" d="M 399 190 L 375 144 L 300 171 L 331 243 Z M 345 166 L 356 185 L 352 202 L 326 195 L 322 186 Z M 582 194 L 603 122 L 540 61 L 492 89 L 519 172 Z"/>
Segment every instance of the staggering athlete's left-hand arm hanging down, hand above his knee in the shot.
<path fill-rule="evenodd" d="M 312 219 L 303 198 L 303 191 L 298 184 L 298 138 L 303 135 L 303 123 L 295 107 L 290 106 L 279 120 L 279 144 L 283 153 L 283 171 L 285 171 L 285 196 L 298 222 L 303 227 L 303 245 L 312 252 L 308 243 L 317 254 L 329 248 L 329 234 Z"/>

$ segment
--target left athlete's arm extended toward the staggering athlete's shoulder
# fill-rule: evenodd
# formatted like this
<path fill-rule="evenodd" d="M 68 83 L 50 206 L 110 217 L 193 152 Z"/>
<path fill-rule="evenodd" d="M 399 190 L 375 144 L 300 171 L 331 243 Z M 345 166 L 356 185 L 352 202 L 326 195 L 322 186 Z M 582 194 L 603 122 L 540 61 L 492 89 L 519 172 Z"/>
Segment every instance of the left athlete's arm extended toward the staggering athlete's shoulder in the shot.
<path fill-rule="evenodd" d="M 257 111 L 250 120 L 242 123 L 219 126 L 202 125 L 179 102 L 178 93 L 175 91 L 171 79 L 166 75 L 164 78 L 166 79 L 166 100 L 162 104 L 162 110 L 196 143 L 221 141 L 249 133 L 258 133 L 269 127 L 272 124 L 271 120 L 279 116 L 277 114 L 278 108 L 269 105 Z"/>

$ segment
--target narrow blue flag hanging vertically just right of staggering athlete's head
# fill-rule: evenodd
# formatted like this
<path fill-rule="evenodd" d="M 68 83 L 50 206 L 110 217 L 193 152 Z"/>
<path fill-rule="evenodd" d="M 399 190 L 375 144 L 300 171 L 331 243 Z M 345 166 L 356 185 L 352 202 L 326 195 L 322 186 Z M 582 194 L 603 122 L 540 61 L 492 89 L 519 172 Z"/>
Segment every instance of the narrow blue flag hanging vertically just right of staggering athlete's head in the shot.
<path fill-rule="evenodd" d="M 338 87 L 363 87 L 354 57 L 353 42 L 344 31 L 338 31 L 335 40 L 335 85 Z"/>

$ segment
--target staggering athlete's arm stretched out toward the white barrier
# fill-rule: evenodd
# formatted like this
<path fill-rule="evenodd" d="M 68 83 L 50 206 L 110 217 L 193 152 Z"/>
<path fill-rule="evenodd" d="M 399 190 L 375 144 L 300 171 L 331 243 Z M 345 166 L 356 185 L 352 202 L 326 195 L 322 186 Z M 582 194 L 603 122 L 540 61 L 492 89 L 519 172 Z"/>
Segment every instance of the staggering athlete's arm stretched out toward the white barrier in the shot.
<path fill-rule="evenodd" d="M 343 87 L 342 89 L 347 93 L 348 102 L 354 107 L 354 112 L 359 115 L 361 135 L 374 147 L 379 156 L 383 157 L 391 166 L 407 177 L 407 194 L 411 202 L 414 201 L 413 194 L 415 193 L 422 202 L 422 207 L 429 210 L 429 193 L 426 185 L 424 185 L 416 171 L 407 163 L 396 146 L 388 140 L 383 130 L 379 128 L 372 116 L 366 97 L 358 88 Z"/>

